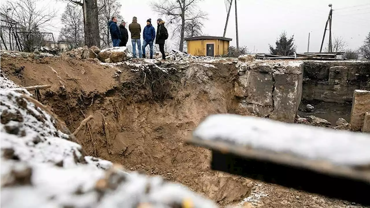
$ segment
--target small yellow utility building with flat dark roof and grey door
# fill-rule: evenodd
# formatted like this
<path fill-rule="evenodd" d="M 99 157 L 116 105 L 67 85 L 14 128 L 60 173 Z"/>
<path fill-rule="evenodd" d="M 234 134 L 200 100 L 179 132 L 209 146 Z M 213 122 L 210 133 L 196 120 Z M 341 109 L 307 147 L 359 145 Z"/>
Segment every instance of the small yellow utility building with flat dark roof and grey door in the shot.
<path fill-rule="evenodd" d="M 198 36 L 185 38 L 188 54 L 193 56 L 222 56 L 229 53 L 231 38 Z"/>

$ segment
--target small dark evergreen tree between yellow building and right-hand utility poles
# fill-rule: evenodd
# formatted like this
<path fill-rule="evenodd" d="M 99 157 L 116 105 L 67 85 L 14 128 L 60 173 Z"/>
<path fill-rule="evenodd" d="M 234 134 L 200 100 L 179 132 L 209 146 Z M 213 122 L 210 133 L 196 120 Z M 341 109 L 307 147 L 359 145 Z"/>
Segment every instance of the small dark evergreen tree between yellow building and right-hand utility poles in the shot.
<path fill-rule="evenodd" d="M 287 38 L 286 32 L 280 34 L 276 40 L 276 47 L 274 48 L 269 44 L 270 53 L 279 56 L 293 56 L 296 52 L 296 45 L 294 44 L 294 35 Z"/>

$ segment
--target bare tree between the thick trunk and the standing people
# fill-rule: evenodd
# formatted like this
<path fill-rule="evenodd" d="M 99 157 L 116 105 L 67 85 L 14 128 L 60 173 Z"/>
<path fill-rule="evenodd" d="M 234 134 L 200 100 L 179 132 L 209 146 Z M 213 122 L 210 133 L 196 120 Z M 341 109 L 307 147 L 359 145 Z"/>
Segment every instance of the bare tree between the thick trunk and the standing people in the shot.
<path fill-rule="evenodd" d="M 111 45 L 108 22 L 113 16 L 117 17 L 118 20 L 122 19 L 121 7 L 121 3 L 117 0 L 98 0 L 99 34 L 102 48 Z"/>

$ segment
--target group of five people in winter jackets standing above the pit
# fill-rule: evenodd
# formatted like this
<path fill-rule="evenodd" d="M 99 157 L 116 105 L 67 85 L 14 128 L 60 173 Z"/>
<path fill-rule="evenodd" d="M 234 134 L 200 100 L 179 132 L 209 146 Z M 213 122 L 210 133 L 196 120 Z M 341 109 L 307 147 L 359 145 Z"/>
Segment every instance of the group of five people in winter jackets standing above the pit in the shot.
<path fill-rule="evenodd" d="M 155 40 L 155 44 L 159 45 L 159 51 L 162 53 L 162 60 L 166 59 L 164 44 L 165 40 L 168 38 L 168 31 L 164 26 L 164 23 L 165 21 L 163 21 L 161 18 L 158 18 L 156 33 L 155 28 L 152 26 L 152 20 L 147 20 L 147 25 L 144 27 L 142 32 L 143 44 L 141 47 L 141 26 L 139 23 L 137 23 L 137 17 L 132 18 L 132 23 L 129 24 L 128 29 L 131 33 L 132 54 L 134 55 L 134 58 L 136 58 L 136 45 L 138 46 L 139 57 L 142 58 L 145 58 L 145 48 L 149 45 L 150 58 L 153 58 L 153 44 Z M 128 42 L 128 31 L 126 29 L 125 21 L 122 20 L 120 26 L 118 26 L 117 17 L 112 17 L 112 20 L 109 21 L 108 26 L 111 33 L 113 47 L 126 46 Z"/>

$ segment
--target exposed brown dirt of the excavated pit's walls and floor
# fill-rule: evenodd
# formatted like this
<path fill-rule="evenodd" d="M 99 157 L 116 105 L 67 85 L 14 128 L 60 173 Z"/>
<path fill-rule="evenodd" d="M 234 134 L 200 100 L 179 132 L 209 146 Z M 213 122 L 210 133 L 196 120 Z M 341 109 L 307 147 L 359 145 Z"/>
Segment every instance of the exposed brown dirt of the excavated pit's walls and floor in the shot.
<path fill-rule="evenodd" d="M 133 72 L 135 67 L 123 64 L 117 66 L 122 73 L 114 78 L 116 68 L 92 61 L 0 60 L 0 71 L 21 86 L 51 84 L 51 89 L 41 90 L 41 103 L 48 105 L 71 130 L 84 117 L 94 115 L 87 128 L 77 134 L 88 154 L 120 163 L 129 170 L 162 175 L 220 205 L 230 205 L 248 197 L 256 182 L 210 170 L 210 151 L 184 143 L 191 130 L 209 114 L 245 114 L 238 109 L 233 95 L 236 68 L 223 63 L 215 66 L 164 63 L 161 67 L 177 69 L 165 74 L 152 67 L 151 72 Z M 316 206 L 311 194 L 275 185 L 263 187 L 269 194 L 260 198 L 263 207 L 343 204 L 315 195 L 316 201 L 322 201 Z M 295 199 L 298 194 L 300 201 Z"/>

